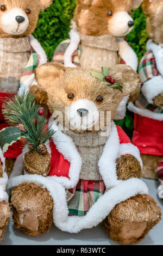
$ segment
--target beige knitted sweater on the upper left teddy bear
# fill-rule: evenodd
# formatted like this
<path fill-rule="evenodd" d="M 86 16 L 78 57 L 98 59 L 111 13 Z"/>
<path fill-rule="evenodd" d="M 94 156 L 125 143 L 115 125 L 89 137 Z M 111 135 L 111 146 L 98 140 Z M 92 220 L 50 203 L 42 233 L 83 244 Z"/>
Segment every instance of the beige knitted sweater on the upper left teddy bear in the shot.
<path fill-rule="evenodd" d="M 0 38 L 0 92 L 17 92 L 30 51 L 27 37 Z"/>

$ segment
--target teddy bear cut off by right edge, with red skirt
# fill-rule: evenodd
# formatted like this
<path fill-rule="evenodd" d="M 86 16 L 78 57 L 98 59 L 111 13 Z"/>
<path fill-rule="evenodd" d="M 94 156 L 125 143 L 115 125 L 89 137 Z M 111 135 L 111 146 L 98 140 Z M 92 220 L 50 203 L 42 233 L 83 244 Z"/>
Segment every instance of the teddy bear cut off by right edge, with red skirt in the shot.
<path fill-rule="evenodd" d="M 157 167 L 163 160 L 163 2 L 144 0 L 142 8 L 147 15 L 147 32 L 151 39 L 139 66 L 141 93 L 128 108 L 135 114 L 133 143 L 141 153 L 143 176 L 157 179 Z"/>

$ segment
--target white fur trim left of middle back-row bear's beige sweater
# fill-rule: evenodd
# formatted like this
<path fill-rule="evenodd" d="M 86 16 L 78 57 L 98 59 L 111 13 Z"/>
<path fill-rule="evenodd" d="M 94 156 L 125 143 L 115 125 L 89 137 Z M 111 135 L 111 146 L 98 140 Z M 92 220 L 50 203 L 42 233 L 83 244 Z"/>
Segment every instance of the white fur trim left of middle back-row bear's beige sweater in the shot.
<path fill-rule="evenodd" d="M 78 44 L 80 42 L 80 36 L 77 32 L 77 28 L 71 29 L 69 35 L 71 41 L 64 54 L 64 65 L 70 68 L 77 68 L 77 66 L 72 63 L 72 54 L 77 50 Z"/>

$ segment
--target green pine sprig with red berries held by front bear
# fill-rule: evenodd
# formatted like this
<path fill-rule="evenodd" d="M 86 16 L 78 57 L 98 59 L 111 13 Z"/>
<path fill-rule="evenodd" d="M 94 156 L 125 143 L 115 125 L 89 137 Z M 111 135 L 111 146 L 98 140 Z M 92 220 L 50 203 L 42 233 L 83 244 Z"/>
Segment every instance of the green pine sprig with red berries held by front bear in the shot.
<path fill-rule="evenodd" d="M 21 138 L 24 138 L 26 145 L 35 151 L 38 151 L 39 145 L 45 144 L 54 135 L 51 127 L 47 126 L 47 119 L 39 115 L 40 108 L 30 93 L 16 95 L 3 105 L 5 120 L 12 125 L 24 125 L 26 132 L 21 132 Z"/>

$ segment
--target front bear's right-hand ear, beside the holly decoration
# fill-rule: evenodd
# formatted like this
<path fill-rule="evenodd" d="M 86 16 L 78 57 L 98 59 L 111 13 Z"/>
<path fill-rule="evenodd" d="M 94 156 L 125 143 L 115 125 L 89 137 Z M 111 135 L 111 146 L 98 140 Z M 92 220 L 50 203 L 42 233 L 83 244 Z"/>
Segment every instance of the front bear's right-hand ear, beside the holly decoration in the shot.
<path fill-rule="evenodd" d="M 112 66 L 109 75 L 117 83 L 122 83 L 124 96 L 134 93 L 139 88 L 140 77 L 130 66 L 124 64 Z"/>

